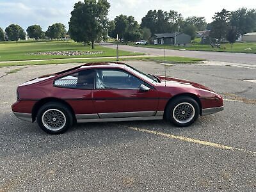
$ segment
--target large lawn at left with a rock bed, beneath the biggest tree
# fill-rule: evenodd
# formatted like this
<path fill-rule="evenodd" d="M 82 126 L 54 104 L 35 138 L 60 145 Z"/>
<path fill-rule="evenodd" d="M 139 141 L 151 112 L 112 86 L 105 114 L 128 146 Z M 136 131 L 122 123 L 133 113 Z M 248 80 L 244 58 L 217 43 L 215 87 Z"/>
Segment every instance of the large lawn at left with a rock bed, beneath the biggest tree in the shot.
<path fill-rule="evenodd" d="M 102 54 L 89 54 L 86 56 L 49 56 L 49 55 L 30 55 L 43 51 L 104 51 Z M 120 56 L 140 55 L 138 52 L 119 51 Z M 47 60 L 60 58 L 88 58 L 88 57 L 108 57 L 116 56 L 116 50 L 95 45 L 95 49 L 84 46 L 73 41 L 22 41 L 1 42 L 0 61 L 19 61 L 19 60 Z"/>

